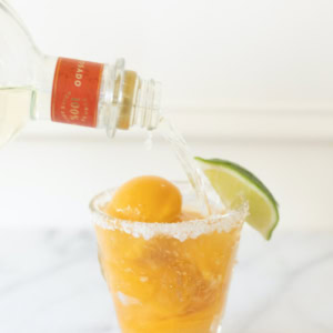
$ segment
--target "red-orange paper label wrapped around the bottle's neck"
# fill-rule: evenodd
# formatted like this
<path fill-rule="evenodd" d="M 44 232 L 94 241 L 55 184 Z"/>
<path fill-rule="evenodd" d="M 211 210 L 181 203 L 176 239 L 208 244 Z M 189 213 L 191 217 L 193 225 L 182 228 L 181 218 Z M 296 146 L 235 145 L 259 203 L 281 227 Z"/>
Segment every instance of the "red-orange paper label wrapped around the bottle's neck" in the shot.
<path fill-rule="evenodd" d="M 52 121 L 95 128 L 102 71 L 102 63 L 59 58 L 53 79 Z"/>

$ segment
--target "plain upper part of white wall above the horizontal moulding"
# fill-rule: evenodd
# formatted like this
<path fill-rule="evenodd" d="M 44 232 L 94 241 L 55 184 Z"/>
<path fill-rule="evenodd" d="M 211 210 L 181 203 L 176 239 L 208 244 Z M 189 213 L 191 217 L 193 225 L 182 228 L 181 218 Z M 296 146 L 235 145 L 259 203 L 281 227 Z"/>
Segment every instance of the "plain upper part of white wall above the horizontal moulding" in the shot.
<path fill-rule="evenodd" d="M 164 104 L 333 105 L 330 0 L 11 0 L 44 53 L 128 67 Z"/>

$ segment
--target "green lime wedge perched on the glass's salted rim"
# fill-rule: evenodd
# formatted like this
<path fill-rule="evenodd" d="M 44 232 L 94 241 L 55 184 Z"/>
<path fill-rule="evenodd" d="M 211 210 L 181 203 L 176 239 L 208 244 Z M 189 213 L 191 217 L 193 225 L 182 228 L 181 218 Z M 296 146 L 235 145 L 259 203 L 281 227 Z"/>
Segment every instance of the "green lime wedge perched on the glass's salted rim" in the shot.
<path fill-rule="evenodd" d="M 246 222 L 270 240 L 279 222 L 278 202 L 270 190 L 250 171 L 230 161 L 195 158 L 222 202 L 234 208 L 249 202 Z"/>

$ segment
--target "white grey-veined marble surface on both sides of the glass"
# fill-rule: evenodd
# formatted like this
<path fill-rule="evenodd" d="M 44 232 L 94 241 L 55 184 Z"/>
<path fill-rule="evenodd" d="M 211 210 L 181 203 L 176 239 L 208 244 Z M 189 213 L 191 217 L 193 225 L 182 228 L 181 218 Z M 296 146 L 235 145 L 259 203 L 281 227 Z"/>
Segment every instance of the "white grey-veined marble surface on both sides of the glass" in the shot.
<path fill-rule="evenodd" d="M 223 332 L 332 333 L 333 232 L 245 229 Z M 0 332 L 119 332 L 92 230 L 0 230 Z"/>

